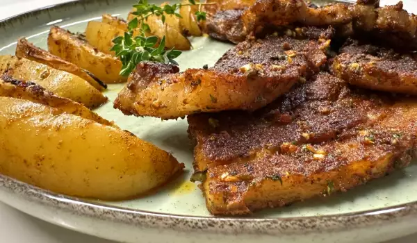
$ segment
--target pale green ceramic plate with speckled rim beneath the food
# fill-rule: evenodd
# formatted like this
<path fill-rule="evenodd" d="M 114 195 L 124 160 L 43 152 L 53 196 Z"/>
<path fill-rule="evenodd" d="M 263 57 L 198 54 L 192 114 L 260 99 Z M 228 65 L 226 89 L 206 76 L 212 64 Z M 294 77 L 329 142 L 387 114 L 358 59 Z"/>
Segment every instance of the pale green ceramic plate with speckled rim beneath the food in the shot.
<path fill-rule="evenodd" d="M 51 25 L 82 32 L 102 13 L 126 17 L 130 8 L 122 0 L 76 1 L 7 19 L 0 23 L 0 54 L 13 54 L 22 36 L 47 49 Z M 213 65 L 231 47 L 207 37 L 192 42 L 193 51 L 178 59 L 182 69 Z M 112 104 L 121 87 L 109 86 L 111 101 L 97 109 L 99 115 L 172 152 L 186 164 L 183 176 L 151 196 L 117 203 L 75 199 L 0 176 L 0 200 L 51 223 L 123 242 L 380 242 L 417 232 L 417 165 L 329 198 L 245 218 L 212 217 L 197 185 L 188 181 L 193 153 L 186 120 L 122 115 Z"/>

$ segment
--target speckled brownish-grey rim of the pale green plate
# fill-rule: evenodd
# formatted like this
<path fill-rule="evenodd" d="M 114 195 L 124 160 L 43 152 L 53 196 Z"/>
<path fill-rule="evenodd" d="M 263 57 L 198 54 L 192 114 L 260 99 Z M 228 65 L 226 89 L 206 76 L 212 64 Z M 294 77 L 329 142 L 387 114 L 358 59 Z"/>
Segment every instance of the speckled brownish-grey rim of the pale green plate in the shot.
<path fill-rule="evenodd" d="M 109 4 L 109 1 L 111 0 L 71 0 L 66 3 L 52 4 L 3 19 L 0 21 L 0 27 L 13 24 L 13 22 L 17 22 L 22 18 L 42 15 L 49 10 L 68 8 L 92 2 L 106 2 Z M 352 0 L 339 1 L 346 3 L 352 2 Z M 300 232 L 311 233 L 317 231 L 347 231 L 354 228 L 387 224 L 400 218 L 417 216 L 417 201 L 375 210 L 309 217 L 245 218 L 174 215 L 108 206 L 104 203 L 92 203 L 84 199 L 50 192 L 2 174 L 0 174 L 0 190 L 17 194 L 27 201 L 40 203 L 47 207 L 58 210 L 70 210 L 70 212 L 80 216 L 106 221 L 110 220 L 122 224 L 133 224 L 145 228 L 161 228 L 175 231 L 203 231 L 229 234 L 244 232 L 247 234 L 268 235 Z"/>

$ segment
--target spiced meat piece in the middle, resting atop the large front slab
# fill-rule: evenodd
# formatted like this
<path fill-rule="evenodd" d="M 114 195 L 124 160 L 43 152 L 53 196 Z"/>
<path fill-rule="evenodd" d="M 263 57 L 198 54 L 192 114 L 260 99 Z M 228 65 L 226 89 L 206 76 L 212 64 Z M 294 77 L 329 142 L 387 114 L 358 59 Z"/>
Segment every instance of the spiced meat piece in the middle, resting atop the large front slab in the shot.
<path fill-rule="evenodd" d="M 126 115 L 163 119 L 197 112 L 256 110 L 318 72 L 327 61 L 327 47 L 325 39 L 270 36 L 238 44 L 211 69 L 178 73 L 174 66 L 141 63 L 118 95 L 115 108 Z"/>

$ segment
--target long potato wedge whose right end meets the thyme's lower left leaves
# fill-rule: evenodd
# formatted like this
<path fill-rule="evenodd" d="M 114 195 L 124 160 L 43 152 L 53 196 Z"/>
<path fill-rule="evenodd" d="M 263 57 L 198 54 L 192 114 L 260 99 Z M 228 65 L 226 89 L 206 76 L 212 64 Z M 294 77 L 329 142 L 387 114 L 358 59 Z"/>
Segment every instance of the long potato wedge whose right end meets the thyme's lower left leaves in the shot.
<path fill-rule="evenodd" d="M 102 53 L 85 40 L 63 28 L 54 26 L 48 36 L 48 49 L 55 56 L 72 62 L 88 70 L 104 83 L 122 83 L 126 77 L 120 76 L 122 62 L 115 56 Z"/>

